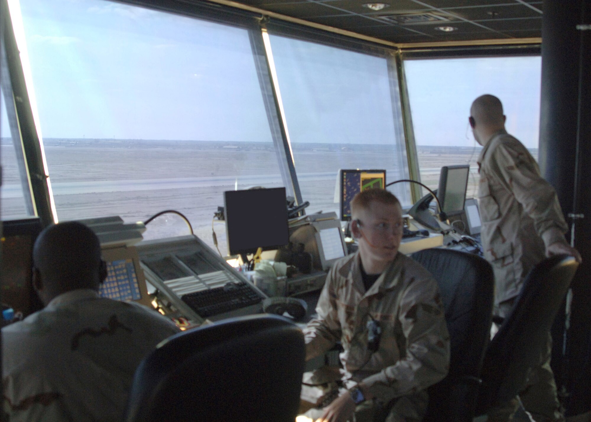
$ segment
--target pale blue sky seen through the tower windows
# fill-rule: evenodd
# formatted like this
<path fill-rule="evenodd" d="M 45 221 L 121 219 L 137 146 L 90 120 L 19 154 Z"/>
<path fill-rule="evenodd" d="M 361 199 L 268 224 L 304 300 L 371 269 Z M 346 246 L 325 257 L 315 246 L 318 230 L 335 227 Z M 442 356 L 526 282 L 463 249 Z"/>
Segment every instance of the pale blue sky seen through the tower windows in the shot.
<path fill-rule="evenodd" d="M 271 142 L 245 29 L 105 0 L 20 3 L 43 137 Z M 272 35 L 271 47 L 292 142 L 402 141 L 386 59 Z M 493 93 L 509 132 L 537 147 L 540 66 L 408 61 L 417 144 L 471 147 L 470 103 Z"/>

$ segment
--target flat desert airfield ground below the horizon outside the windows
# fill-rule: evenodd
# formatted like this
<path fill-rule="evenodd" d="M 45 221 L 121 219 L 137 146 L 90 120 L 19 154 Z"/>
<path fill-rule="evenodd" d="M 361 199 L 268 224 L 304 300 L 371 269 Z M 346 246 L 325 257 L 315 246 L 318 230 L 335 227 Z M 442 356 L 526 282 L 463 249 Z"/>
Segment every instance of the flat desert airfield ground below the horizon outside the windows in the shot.
<path fill-rule="evenodd" d="M 277 153 L 272 144 L 251 143 L 251 148 L 220 148 L 212 142 L 46 142 L 46 157 L 60 220 L 119 215 L 125 221 L 145 220 L 165 209 L 177 210 L 190 220 L 194 232 L 207 244 L 212 242 L 212 219 L 217 206 L 223 206 L 223 191 L 249 186 L 283 186 Z M 254 145 L 256 144 L 256 145 Z M 419 147 L 421 180 L 437 188 L 442 165 L 470 162 L 467 197 L 476 196 L 478 168 L 475 148 Z M 2 219 L 25 214 L 22 187 L 14 147 L 2 142 L 3 167 Z M 335 211 L 338 168 L 386 168 L 387 181 L 404 178 L 391 169 L 394 151 L 379 148 L 355 151 L 324 151 L 317 148 L 294 150 L 298 182 L 304 200 L 311 205 L 307 213 Z M 398 157 L 404 163 L 405 157 Z M 399 165 L 398 168 L 401 166 Z M 397 185 L 395 193 L 407 189 Z M 402 194 L 402 196 L 404 196 Z M 248 206 L 248 204 L 245 204 Z M 264 222 L 264 216 L 261 221 Z M 214 228 L 222 254 L 226 254 L 223 223 Z M 154 239 L 188 233 L 183 220 L 164 215 L 148 225 L 144 238 Z"/>

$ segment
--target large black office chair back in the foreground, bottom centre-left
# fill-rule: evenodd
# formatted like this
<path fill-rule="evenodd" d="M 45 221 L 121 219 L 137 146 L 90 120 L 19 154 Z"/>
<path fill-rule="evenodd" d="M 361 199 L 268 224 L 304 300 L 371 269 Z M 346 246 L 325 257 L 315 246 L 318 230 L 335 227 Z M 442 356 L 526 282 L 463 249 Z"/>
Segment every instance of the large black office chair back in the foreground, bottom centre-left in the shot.
<path fill-rule="evenodd" d="M 304 337 L 280 316 L 222 320 L 179 333 L 135 372 L 126 422 L 293 422 Z"/>

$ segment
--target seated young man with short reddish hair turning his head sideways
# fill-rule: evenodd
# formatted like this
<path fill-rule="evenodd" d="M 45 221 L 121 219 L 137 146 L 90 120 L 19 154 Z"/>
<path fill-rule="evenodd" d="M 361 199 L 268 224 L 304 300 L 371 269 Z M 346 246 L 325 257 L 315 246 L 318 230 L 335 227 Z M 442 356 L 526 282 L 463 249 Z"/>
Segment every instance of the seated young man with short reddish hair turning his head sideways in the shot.
<path fill-rule="evenodd" d="M 351 202 L 359 251 L 335 263 L 306 335 L 306 358 L 337 341 L 349 388 L 320 421 L 420 421 L 426 388 L 449 369 L 449 334 L 431 274 L 398 252 L 402 210 L 386 190 L 365 190 Z"/>

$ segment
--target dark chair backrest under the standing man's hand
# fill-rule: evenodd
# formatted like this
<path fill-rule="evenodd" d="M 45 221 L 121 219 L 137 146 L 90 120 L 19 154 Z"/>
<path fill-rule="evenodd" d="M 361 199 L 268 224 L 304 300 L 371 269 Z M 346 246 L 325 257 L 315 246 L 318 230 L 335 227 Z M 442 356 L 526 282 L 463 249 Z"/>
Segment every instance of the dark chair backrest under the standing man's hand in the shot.
<path fill-rule="evenodd" d="M 525 277 L 521 293 L 486 349 L 478 414 L 514 398 L 525 387 L 579 264 L 569 255 L 544 259 Z"/>

